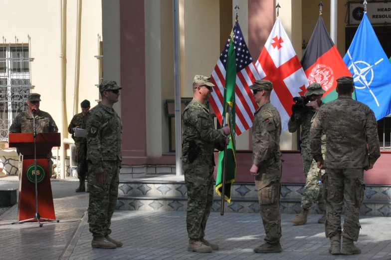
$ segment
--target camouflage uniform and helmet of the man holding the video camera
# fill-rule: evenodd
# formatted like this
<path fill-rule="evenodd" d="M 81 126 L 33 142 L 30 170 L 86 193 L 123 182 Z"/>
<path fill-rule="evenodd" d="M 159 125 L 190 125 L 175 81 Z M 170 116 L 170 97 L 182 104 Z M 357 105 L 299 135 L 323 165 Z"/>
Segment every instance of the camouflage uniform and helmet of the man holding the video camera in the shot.
<path fill-rule="evenodd" d="M 311 95 L 322 95 L 325 91 L 322 89 L 322 85 L 319 83 L 312 83 L 308 86 L 306 96 Z M 322 101 L 319 107 L 322 107 L 325 103 Z M 302 127 L 302 143 L 301 143 L 301 154 L 304 165 L 304 174 L 306 176 L 306 183 L 304 185 L 303 195 L 301 196 L 301 208 L 310 210 L 313 202 L 315 202 L 320 212 L 323 214 L 326 210 L 325 202 L 322 197 L 322 186 L 318 185 L 321 180 L 321 173 L 318 169 L 318 165 L 313 159 L 310 153 L 310 129 L 312 120 L 317 113 L 316 110 L 311 110 L 305 114 L 292 115 L 288 121 L 288 130 L 290 133 L 296 132 L 297 128 L 301 125 Z M 322 154 L 326 154 L 326 135 L 322 135 Z M 322 170 L 324 174 L 324 170 Z"/>

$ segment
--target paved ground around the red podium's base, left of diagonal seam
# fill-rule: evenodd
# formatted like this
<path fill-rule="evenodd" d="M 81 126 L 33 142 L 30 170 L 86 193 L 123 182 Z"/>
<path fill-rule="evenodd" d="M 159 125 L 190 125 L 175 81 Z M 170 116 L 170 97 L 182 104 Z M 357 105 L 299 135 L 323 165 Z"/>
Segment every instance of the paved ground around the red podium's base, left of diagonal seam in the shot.
<path fill-rule="evenodd" d="M 88 207 L 88 194 L 54 199 L 59 223 L 14 224 L 17 205 L 0 216 L 1 260 L 57 260 Z M 44 216 L 41 216 L 44 217 Z M 44 222 L 43 222 L 44 223 Z"/>

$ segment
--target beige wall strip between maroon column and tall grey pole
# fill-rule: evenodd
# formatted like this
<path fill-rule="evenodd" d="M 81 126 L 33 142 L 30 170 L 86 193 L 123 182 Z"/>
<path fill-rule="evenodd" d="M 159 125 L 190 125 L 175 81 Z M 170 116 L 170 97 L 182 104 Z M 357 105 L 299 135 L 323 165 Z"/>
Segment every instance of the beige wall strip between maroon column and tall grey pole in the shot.
<path fill-rule="evenodd" d="M 169 151 L 164 100 L 174 99 L 172 7 L 171 1 L 145 0 L 148 156 L 161 156 Z"/>

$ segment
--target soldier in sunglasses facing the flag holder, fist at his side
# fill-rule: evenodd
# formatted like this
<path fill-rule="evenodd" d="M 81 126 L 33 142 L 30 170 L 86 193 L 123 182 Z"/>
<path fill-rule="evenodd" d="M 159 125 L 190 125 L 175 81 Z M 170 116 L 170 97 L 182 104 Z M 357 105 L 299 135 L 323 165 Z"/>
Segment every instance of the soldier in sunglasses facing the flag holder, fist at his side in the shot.
<path fill-rule="evenodd" d="M 279 253 L 281 238 L 281 170 L 280 151 L 281 117 L 270 103 L 273 90 L 269 80 L 256 80 L 250 86 L 259 108 L 252 125 L 252 167 L 258 191 L 259 212 L 265 229 L 265 242 L 254 249 L 255 253 Z"/>

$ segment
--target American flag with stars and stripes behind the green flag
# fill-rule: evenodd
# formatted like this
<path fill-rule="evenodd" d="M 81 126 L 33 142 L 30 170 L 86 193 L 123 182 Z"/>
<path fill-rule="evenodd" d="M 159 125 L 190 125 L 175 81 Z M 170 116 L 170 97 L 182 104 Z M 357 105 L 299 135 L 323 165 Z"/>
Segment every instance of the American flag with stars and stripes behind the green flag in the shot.
<path fill-rule="evenodd" d="M 248 50 L 247 44 L 244 41 L 243 34 L 240 30 L 239 22 L 236 21 L 232 29 L 233 43 L 236 55 L 236 84 L 235 84 L 235 120 L 236 120 L 236 136 L 245 132 L 252 127 L 254 112 L 258 109 L 258 104 L 255 103 L 252 96 L 252 91 L 248 88 L 255 80 L 260 79 L 255 68 L 254 62 Z M 213 92 L 210 97 L 210 104 L 216 114 L 216 117 L 222 124 L 223 111 L 223 95 L 225 85 L 225 69 L 227 67 L 229 36 L 227 43 L 222 50 L 217 64 L 211 74 Z"/>

